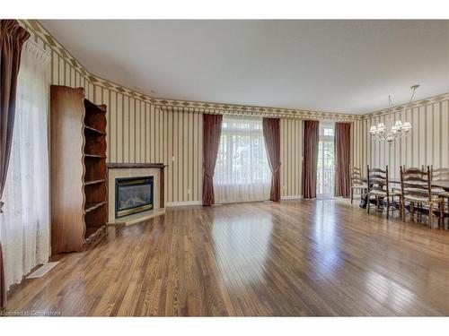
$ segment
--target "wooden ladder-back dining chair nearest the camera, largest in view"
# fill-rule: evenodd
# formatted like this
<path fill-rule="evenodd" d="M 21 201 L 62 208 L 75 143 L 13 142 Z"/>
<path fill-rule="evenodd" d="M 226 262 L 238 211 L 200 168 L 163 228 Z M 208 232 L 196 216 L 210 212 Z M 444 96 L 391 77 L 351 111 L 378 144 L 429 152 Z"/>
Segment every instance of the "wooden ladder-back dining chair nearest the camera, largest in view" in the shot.
<path fill-rule="evenodd" d="M 423 205 L 428 205 L 428 223 L 432 228 L 434 206 L 439 209 L 439 220 L 443 220 L 443 199 L 432 193 L 432 173 L 430 167 L 427 169 L 402 168 L 401 167 L 401 217 L 405 221 L 406 202 L 409 202 L 410 215 L 414 215 L 415 204 L 422 214 Z"/>

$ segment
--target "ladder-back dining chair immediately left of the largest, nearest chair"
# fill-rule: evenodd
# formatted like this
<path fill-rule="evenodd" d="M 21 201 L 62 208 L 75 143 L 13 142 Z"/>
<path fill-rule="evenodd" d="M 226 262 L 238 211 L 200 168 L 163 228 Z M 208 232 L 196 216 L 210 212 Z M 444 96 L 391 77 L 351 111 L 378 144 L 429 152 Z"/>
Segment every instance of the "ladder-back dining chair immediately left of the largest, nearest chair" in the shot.
<path fill-rule="evenodd" d="M 394 197 L 397 196 L 401 202 L 401 193 L 391 191 L 389 188 L 388 166 L 385 169 L 369 168 L 367 166 L 367 194 L 366 212 L 369 213 L 371 196 L 375 196 L 376 209 L 380 211 L 380 203 L 386 202 L 387 219 L 389 218 L 390 208 L 394 211 Z"/>

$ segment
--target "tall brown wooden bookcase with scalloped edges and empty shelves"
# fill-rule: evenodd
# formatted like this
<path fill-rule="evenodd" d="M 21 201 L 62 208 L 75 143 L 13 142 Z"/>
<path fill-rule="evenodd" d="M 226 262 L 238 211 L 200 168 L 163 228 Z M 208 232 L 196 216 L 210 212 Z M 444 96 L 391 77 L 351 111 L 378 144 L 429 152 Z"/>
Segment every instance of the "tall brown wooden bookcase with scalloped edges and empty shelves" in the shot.
<path fill-rule="evenodd" d="M 51 251 L 81 252 L 106 235 L 106 106 L 51 86 Z"/>

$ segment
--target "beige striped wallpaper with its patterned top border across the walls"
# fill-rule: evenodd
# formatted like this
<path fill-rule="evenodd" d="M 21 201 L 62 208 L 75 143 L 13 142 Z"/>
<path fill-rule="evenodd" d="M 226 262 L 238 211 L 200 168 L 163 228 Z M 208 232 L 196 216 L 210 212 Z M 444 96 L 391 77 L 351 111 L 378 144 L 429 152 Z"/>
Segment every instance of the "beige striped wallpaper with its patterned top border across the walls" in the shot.
<path fill-rule="evenodd" d="M 448 125 L 447 99 L 416 108 L 417 111 L 413 113 L 401 112 L 408 117 L 413 116 L 416 119 L 413 120 L 414 125 L 419 121 L 419 131 L 414 130 L 407 142 L 396 145 L 398 148 L 388 153 L 384 145 L 371 142 L 366 133 L 369 126 L 383 116 L 337 115 L 282 108 L 152 99 L 95 77 L 51 38 L 39 22 L 20 22 L 31 32 L 31 39 L 50 53 L 52 84 L 84 87 L 87 99 L 95 104 L 107 105 L 108 161 L 163 162 L 169 166 L 165 174 L 167 205 L 201 202 L 203 113 L 258 114 L 281 118 L 281 194 L 284 199 L 299 198 L 301 195 L 304 119 L 351 122 L 351 160 L 356 166 L 365 167 L 367 158 L 377 158 L 377 153 L 379 159 L 376 164 L 383 164 L 388 160 L 399 167 L 400 162 L 416 161 L 420 164 L 426 159 L 433 159 L 441 165 L 448 164 L 445 162 L 447 155 L 442 154 L 447 151 L 448 141 L 445 128 Z M 430 135 L 433 130 L 436 130 L 437 135 Z M 418 145 L 423 139 L 426 139 L 426 143 Z M 439 139 L 441 142 L 438 142 Z M 434 145 L 438 148 L 435 151 Z M 432 151 L 427 151 L 428 148 L 432 148 Z M 393 159 L 395 153 L 400 151 L 401 159 Z M 375 155 L 371 156 L 372 154 Z M 428 158 L 424 159 L 424 155 L 428 155 Z"/>

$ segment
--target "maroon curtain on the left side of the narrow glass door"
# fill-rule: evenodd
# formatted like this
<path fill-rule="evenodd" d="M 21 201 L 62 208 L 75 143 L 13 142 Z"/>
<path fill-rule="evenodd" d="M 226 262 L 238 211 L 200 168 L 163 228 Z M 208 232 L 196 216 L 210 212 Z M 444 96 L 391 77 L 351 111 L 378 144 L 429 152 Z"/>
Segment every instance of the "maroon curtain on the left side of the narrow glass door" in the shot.
<path fill-rule="evenodd" d="M 316 198 L 319 125 L 316 120 L 304 121 L 303 196 L 309 199 Z"/>

